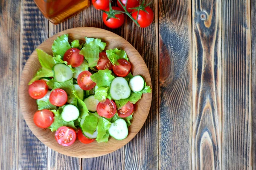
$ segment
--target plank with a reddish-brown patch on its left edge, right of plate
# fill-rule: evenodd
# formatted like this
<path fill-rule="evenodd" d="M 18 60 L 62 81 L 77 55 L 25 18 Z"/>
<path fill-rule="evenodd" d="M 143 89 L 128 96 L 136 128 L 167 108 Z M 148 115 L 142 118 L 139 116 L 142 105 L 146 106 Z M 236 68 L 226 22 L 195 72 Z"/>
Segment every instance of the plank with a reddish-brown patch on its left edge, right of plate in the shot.
<path fill-rule="evenodd" d="M 191 169 L 191 1 L 159 0 L 160 169 Z"/>

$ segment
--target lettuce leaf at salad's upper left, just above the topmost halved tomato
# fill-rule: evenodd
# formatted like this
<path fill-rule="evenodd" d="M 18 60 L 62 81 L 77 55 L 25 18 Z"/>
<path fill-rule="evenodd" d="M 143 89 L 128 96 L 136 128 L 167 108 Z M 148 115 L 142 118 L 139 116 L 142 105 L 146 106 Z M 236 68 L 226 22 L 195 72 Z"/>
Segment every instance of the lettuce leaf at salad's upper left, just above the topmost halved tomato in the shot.
<path fill-rule="evenodd" d="M 68 42 L 68 34 L 63 34 L 61 37 L 57 37 L 52 44 L 53 56 L 64 56 L 65 52 L 70 49 L 70 43 Z"/>

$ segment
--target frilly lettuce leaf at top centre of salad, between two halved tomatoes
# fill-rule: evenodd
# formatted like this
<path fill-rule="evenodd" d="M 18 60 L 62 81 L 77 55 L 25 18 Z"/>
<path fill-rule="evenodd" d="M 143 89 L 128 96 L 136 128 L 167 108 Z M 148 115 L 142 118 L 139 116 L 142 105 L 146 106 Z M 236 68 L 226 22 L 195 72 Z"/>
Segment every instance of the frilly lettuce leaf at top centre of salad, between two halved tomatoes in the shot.
<path fill-rule="evenodd" d="M 105 49 L 106 43 L 99 38 L 85 37 L 85 45 L 81 49 L 82 54 L 88 62 L 89 67 L 95 67 L 99 60 L 99 53 Z"/>

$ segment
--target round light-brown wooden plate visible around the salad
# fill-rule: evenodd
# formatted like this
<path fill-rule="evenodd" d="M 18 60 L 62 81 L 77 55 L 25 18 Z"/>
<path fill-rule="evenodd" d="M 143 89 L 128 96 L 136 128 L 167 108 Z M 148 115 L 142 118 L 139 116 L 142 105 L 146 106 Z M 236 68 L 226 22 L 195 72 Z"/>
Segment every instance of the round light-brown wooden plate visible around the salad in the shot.
<path fill-rule="evenodd" d="M 131 62 L 132 74 L 142 75 L 147 85 L 151 86 L 151 78 L 148 72 L 148 68 L 138 51 L 125 39 L 110 31 L 91 27 L 67 29 L 45 40 L 41 45 L 38 46 L 38 48 L 44 50 L 48 54 L 52 54 L 52 43 L 57 38 L 57 36 L 60 36 L 62 34 L 69 34 L 70 41 L 80 40 L 81 42 L 84 42 L 85 36 L 101 38 L 103 42 L 107 43 L 106 49 L 124 49 L 128 54 Z M 19 86 L 20 109 L 23 113 L 23 117 L 26 120 L 27 125 L 29 126 L 30 130 L 35 134 L 35 136 L 48 147 L 59 153 L 79 158 L 91 158 L 111 153 L 123 147 L 131 139 L 133 139 L 134 136 L 140 131 L 148 116 L 148 112 L 151 106 L 152 93 L 143 94 L 142 99 L 140 99 L 139 102 L 136 103 L 136 106 L 134 108 L 134 118 L 132 120 L 131 126 L 128 128 L 129 134 L 126 139 L 118 141 L 110 137 L 107 143 L 97 143 L 95 141 L 90 144 L 83 144 L 77 139 L 76 142 L 71 146 L 63 147 L 56 142 L 54 132 L 51 132 L 48 128 L 41 129 L 37 127 L 33 121 L 34 113 L 38 110 L 38 107 L 36 105 L 36 100 L 32 99 L 29 96 L 28 82 L 36 74 L 39 68 L 41 68 L 41 65 L 38 61 L 37 53 L 36 51 L 33 51 L 28 61 L 26 62 L 26 65 L 24 66 L 21 75 Z"/>

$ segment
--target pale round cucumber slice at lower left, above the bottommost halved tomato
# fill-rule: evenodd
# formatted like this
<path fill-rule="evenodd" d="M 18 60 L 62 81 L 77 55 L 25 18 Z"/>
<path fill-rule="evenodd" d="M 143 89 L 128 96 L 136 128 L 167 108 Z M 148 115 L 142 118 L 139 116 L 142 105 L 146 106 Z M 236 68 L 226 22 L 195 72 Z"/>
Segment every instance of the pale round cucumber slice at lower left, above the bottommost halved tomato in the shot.
<path fill-rule="evenodd" d="M 65 122 L 71 122 L 79 117 L 79 110 L 74 105 L 66 105 L 61 112 L 61 118 Z"/>

